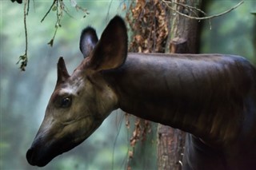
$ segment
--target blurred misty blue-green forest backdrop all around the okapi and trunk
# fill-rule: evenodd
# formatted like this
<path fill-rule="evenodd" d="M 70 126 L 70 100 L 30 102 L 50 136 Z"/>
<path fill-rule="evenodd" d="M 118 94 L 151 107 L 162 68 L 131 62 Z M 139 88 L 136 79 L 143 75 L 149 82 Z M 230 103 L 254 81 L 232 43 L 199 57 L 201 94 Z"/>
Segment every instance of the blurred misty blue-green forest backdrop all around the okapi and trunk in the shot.
<path fill-rule="evenodd" d="M 107 23 L 118 14 L 126 21 L 130 51 L 150 53 L 162 52 L 162 49 L 143 49 L 132 43 L 140 39 L 134 36 L 136 27 L 131 28 L 130 24 L 138 19 L 130 17 L 138 11 L 134 1 L 66 0 L 60 22 L 56 17 L 58 6 L 49 10 L 53 1 L 30 1 L 26 15 L 27 63 L 21 68 L 20 56 L 26 50 L 25 1 L 22 4 L 10 0 L 0 2 L 0 169 L 158 169 L 157 124 L 139 120 L 120 109 L 110 114 L 82 144 L 57 156 L 45 167 L 28 164 L 26 151 L 38 132 L 54 91 L 58 58 L 65 58 L 69 73 L 74 71 L 83 59 L 79 38 L 86 26 L 93 26 L 100 38 Z M 151 6 L 158 6 L 160 2 L 164 1 L 152 1 Z M 238 2 L 207 1 L 202 4 L 202 10 L 211 16 L 229 10 Z M 155 15 L 158 19 L 159 16 Z M 196 21 L 198 53 L 240 55 L 256 65 L 256 2 L 246 0 L 226 14 Z M 58 25 L 55 34 L 57 22 L 61 26 Z M 158 34 L 158 38 L 161 35 Z"/>

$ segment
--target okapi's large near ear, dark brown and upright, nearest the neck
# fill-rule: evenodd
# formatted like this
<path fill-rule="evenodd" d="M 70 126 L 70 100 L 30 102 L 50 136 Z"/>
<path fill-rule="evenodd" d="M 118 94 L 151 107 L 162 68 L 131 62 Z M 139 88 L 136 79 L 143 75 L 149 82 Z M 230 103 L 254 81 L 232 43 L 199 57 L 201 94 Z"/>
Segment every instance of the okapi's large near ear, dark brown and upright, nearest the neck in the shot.
<path fill-rule="evenodd" d="M 96 71 L 116 69 L 126 61 L 127 30 L 122 18 L 114 17 L 102 33 L 90 57 L 90 67 Z"/>

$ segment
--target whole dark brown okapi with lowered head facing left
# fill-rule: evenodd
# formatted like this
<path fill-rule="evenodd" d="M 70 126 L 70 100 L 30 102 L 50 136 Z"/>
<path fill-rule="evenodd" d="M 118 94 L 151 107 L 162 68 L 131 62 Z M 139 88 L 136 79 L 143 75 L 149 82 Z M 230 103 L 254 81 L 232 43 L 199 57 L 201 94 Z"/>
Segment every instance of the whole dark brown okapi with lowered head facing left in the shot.
<path fill-rule="evenodd" d="M 115 109 L 188 132 L 183 169 L 256 169 L 256 69 L 224 54 L 127 53 L 114 17 L 70 76 L 62 57 L 46 115 L 26 158 L 45 166 L 86 140 Z"/>

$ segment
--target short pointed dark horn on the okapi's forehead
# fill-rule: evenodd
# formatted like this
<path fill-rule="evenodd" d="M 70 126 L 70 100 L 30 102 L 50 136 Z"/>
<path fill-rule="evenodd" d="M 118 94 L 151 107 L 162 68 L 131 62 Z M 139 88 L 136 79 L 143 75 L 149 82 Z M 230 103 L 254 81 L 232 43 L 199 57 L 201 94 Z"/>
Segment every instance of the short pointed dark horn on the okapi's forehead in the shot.
<path fill-rule="evenodd" d="M 66 81 L 66 79 L 68 77 L 70 77 L 69 73 L 66 70 L 66 65 L 65 65 L 65 61 L 64 61 L 63 57 L 59 57 L 57 69 L 58 69 L 57 84 L 60 84 L 64 81 Z"/>

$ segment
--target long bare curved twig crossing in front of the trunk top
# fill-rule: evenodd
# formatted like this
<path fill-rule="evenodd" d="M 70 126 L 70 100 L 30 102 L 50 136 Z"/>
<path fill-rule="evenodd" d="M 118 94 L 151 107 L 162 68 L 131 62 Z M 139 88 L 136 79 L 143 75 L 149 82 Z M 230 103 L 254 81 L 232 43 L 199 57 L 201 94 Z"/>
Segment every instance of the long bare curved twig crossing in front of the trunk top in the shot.
<path fill-rule="evenodd" d="M 175 13 L 177 13 L 177 14 L 179 14 L 179 15 L 182 15 L 183 17 L 190 18 L 190 19 L 203 20 L 203 19 L 216 18 L 216 17 L 222 16 L 223 14 L 227 14 L 227 13 L 229 13 L 231 10 L 236 9 L 238 6 L 241 6 L 244 1 L 239 2 L 236 6 L 233 6 L 232 8 L 230 8 L 230 10 L 226 10 L 226 11 L 220 13 L 220 14 L 214 14 L 214 15 L 211 15 L 211 16 L 208 16 L 208 17 L 192 17 L 192 16 L 187 15 L 187 14 L 182 14 L 182 13 L 179 12 L 178 10 L 175 10 L 173 7 L 169 6 L 169 4 L 172 3 L 172 2 L 167 2 L 166 0 L 162 0 L 162 2 L 166 3 L 166 5 L 168 6 L 168 8 L 170 8 L 170 10 L 173 10 Z M 191 7 L 192 7 L 192 6 L 191 6 Z"/>

